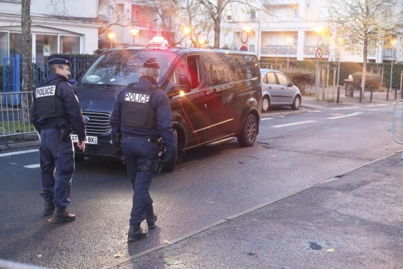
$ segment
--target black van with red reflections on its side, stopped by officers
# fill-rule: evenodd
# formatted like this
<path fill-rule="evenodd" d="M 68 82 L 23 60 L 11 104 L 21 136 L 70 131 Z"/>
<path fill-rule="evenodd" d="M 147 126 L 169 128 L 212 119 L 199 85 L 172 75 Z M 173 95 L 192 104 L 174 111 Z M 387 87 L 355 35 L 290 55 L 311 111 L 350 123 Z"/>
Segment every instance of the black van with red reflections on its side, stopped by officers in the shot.
<path fill-rule="evenodd" d="M 111 49 L 76 83 L 87 129 L 85 152 L 76 158 L 122 158 L 110 140 L 109 117 L 117 93 L 138 81 L 142 64 L 160 63 L 160 88 L 170 97 L 177 152 L 238 138 L 251 146 L 261 120 L 261 72 L 256 55 L 245 51 L 190 48 Z M 135 115 L 133 115 L 135 117 Z M 76 142 L 76 136 L 72 135 Z M 165 170 L 172 170 L 176 154 Z"/>

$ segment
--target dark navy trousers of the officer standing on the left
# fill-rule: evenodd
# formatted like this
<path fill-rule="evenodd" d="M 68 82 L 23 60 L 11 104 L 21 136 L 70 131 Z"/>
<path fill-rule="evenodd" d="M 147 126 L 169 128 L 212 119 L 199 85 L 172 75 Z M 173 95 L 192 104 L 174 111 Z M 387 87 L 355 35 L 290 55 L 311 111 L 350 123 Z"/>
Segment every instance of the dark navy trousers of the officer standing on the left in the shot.
<path fill-rule="evenodd" d="M 74 174 L 73 142 L 70 138 L 60 140 L 58 129 L 43 129 L 40 138 L 41 196 L 45 201 L 54 200 L 58 208 L 66 208 Z"/>

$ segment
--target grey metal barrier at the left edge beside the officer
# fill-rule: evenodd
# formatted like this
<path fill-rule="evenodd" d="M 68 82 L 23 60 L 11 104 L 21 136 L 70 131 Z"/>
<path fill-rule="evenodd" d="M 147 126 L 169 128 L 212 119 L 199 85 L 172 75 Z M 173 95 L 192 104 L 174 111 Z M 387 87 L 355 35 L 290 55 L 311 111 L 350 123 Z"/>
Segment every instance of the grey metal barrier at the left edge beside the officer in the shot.
<path fill-rule="evenodd" d="M 0 92 L 0 137 L 37 133 L 29 119 L 32 92 Z"/>

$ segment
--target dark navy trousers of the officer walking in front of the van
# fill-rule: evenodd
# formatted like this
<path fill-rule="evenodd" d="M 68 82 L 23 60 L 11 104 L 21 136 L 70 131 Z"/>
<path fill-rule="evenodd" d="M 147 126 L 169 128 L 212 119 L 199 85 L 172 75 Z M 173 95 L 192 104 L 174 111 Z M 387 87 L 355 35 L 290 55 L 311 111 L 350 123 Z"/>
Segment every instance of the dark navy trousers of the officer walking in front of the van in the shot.
<path fill-rule="evenodd" d="M 156 161 L 157 147 L 155 143 L 145 139 L 124 138 L 122 153 L 126 162 L 126 170 L 133 184 L 133 205 L 131 208 L 131 225 L 140 225 L 147 218 L 153 219 L 153 200 L 149 195 L 152 168 Z"/>

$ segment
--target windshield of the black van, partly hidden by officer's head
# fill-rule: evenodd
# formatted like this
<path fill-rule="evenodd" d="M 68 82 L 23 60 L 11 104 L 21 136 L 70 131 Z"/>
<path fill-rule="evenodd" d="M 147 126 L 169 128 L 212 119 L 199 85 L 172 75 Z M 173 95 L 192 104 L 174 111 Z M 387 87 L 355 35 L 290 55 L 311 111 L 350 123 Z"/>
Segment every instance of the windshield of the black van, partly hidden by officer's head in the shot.
<path fill-rule="evenodd" d="M 155 57 L 160 64 L 160 79 L 162 79 L 176 54 L 151 49 L 106 51 L 88 68 L 79 84 L 126 86 L 129 83 L 138 82 L 143 63 L 151 57 Z"/>

